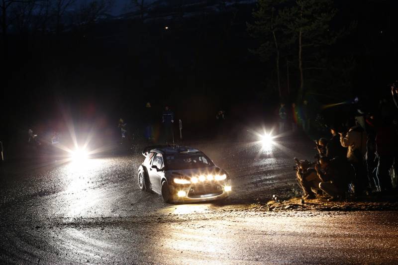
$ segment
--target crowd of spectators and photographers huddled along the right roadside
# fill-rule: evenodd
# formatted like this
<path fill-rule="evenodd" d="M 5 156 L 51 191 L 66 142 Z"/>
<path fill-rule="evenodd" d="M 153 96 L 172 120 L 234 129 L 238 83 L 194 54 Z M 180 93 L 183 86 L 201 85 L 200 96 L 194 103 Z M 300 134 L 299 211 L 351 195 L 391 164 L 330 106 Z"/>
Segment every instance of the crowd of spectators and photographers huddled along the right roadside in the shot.
<path fill-rule="evenodd" d="M 297 181 L 304 199 L 315 198 L 317 194 L 340 200 L 348 195 L 394 196 L 397 193 L 396 85 L 392 85 L 392 94 L 392 100 L 380 100 L 373 111 L 358 109 L 345 123 L 330 125 L 331 138 L 315 142 L 316 162 L 296 160 Z"/>

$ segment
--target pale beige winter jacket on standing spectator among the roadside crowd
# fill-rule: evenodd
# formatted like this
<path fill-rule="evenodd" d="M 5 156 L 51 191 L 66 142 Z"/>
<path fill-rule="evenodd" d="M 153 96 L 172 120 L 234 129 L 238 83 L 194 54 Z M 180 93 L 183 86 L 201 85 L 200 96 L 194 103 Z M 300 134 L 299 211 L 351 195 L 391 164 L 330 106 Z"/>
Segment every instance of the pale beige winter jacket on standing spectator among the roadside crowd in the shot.
<path fill-rule="evenodd" d="M 347 160 L 349 162 L 360 162 L 366 155 L 366 142 L 368 135 L 365 130 L 360 126 L 356 125 L 352 127 L 345 137 L 340 136 L 340 143 L 343 147 L 348 147 Z M 356 157 L 354 153 L 356 150 L 360 151 L 362 158 Z"/>

